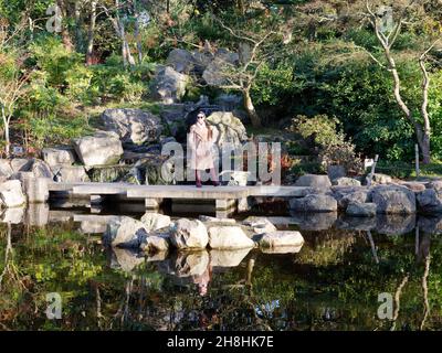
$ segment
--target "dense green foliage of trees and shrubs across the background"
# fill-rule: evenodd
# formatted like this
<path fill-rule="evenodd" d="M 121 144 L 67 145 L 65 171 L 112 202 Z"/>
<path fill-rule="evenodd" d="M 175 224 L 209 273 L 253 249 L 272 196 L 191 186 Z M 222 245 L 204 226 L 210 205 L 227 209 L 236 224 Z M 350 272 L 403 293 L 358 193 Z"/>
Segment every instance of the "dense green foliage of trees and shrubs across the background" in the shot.
<path fill-rule="evenodd" d="M 417 57 L 441 34 L 442 6 L 414 1 L 407 10 L 407 3 L 390 3 L 393 22 L 407 11 L 410 19 L 391 52 L 403 99 L 420 121 L 422 73 Z M 54 4 L 62 15 L 57 32 L 48 31 L 54 19 L 46 10 Z M 372 1 L 373 9 L 378 4 Z M 414 127 L 394 99 L 392 76 L 382 67 L 382 50 L 360 15 L 364 11 L 361 0 L 351 4 L 308 0 L 0 1 L 0 81 L 17 79 L 8 73 L 11 63 L 27 77 L 27 94 L 13 106 L 12 138 L 41 148 L 85 133 L 97 107 L 150 101 L 155 66 L 165 63 L 172 49 L 201 51 L 210 43 L 213 49 L 238 52 L 246 38 L 259 40 L 275 31 L 260 44 L 259 61 L 243 71 L 253 76 L 250 95 L 263 125 L 285 128 L 297 115 L 336 117 L 356 152 L 411 161 Z M 124 28 L 124 36 L 116 25 Z M 122 51 L 125 42 L 128 51 Z M 433 160 L 442 159 L 441 56 L 436 44 L 424 63 L 431 83 L 428 111 Z M 217 94 L 191 87 L 186 97 L 198 99 L 204 93 Z M 3 135 L 4 126 L 0 129 Z"/>

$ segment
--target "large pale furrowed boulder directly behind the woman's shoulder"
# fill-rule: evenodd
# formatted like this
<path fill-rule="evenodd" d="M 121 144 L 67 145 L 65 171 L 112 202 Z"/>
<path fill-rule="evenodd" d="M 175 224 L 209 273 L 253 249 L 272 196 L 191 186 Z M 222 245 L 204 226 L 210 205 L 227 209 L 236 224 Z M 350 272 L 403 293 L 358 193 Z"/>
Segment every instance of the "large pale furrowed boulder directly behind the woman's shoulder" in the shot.
<path fill-rule="evenodd" d="M 208 116 L 207 121 L 219 132 L 215 143 L 220 151 L 223 147 L 241 147 L 248 141 L 244 125 L 231 111 L 213 111 Z"/>

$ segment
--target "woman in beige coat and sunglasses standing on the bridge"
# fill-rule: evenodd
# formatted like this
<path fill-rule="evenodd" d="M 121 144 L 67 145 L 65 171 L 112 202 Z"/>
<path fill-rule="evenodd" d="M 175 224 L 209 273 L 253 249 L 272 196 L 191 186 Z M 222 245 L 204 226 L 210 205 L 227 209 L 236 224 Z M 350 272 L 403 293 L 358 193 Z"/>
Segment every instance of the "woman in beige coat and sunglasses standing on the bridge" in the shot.
<path fill-rule="evenodd" d="M 190 169 L 194 170 L 197 188 L 201 188 L 201 171 L 210 169 L 212 184 L 218 186 L 218 175 L 214 172 L 211 148 L 217 141 L 217 129 L 212 129 L 206 121 L 206 114 L 198 113 L 197 122 L 190 127 L 189 146 L 191 149 Z"/>

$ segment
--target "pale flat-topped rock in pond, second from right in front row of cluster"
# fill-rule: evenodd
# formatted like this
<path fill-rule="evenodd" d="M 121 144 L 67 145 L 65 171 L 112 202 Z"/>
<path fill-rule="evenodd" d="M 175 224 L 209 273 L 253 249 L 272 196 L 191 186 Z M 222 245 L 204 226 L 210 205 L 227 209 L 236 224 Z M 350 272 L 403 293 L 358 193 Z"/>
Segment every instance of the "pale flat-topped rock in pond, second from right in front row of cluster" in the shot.
<path fill-rule="evenodd" d="M 209 227 L 209 245 L 212 249 L 241 249 L 254 247 L 244 231 L 239 226 Z"/>

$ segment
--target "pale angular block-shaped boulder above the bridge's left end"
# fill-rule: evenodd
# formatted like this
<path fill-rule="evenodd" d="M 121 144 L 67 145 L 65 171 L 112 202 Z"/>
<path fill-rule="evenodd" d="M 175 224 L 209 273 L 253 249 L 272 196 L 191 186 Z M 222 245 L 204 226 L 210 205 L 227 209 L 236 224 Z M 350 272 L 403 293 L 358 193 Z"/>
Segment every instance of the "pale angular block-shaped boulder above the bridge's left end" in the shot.
<path fill-rule="evenodd" d="M 118 135 L 110 131 L 75 139 L 74 147 L 86 167 L 117 164 L 124 152 Z"/>

